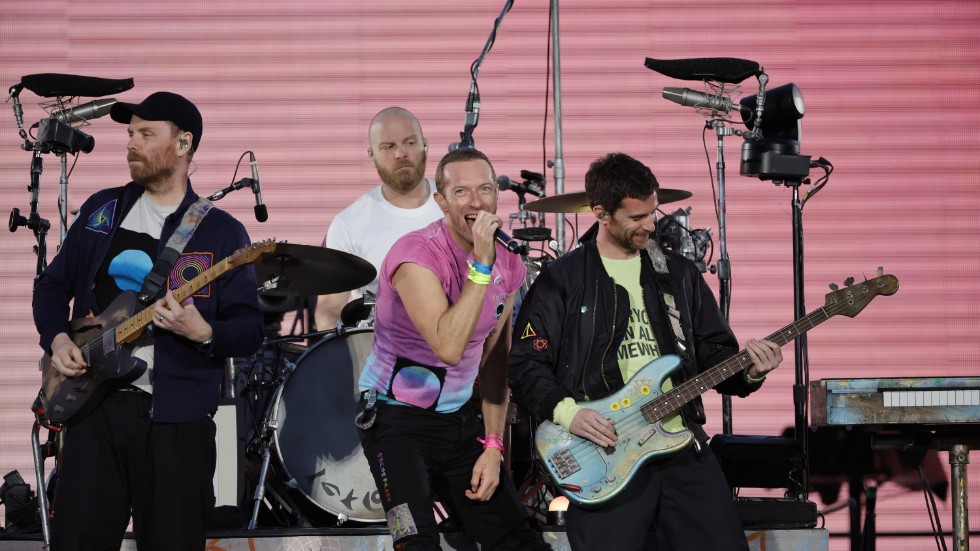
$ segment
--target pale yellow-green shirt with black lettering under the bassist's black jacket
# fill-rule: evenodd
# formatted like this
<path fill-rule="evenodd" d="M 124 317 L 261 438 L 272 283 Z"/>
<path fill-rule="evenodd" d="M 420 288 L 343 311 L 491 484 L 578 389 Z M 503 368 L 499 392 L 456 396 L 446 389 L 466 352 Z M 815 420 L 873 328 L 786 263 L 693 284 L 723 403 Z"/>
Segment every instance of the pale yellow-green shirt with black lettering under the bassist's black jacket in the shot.
<path fill-rule="evenodd" d="M 643 303 L 643 287 L 640 285 L 640 270 L 642 257 L 637 255 L 627 260 L 602 258 L 602 265 L 613 281 L 621 285 L 629 293 L 630 321 L 626 328 L 626 336 L 616 351 L 619 359 L 619 371 L 624 381 L 629 381 L 636 372 L 660 357 L 660 344 L 650 326 L 650 317 Z M 659 298 L 657 299 L 659 300 Z M 674 387 L 670 379 L 664 381 L 661 390 L 667 392 Z M 575 414 L 582 409 L 572 398 L 565 398 L 555 406 L 554 421 L 566 429 L 571 425 Z M 604 412 L 600 412 L 604 413 Z M 673 414 L 664 419 L 664 429 L 677 432 L 684 428 L 680 414 Z"/>

